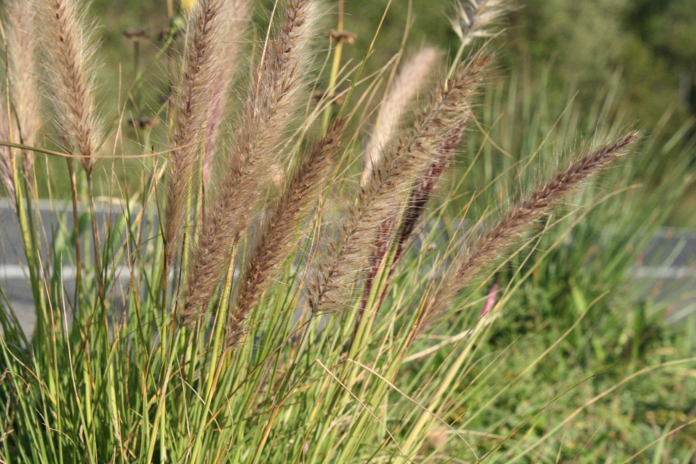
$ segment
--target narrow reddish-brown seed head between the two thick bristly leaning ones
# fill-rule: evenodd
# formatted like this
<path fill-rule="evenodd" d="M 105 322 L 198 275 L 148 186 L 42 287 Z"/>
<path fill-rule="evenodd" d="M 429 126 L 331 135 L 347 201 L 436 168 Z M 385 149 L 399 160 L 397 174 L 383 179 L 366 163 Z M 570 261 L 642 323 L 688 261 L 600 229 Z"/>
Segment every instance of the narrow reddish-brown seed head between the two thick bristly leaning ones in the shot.
<path fill-rule="evenodd" d="M 292 238 L 301 221 L 303 208 L 319 193 L 331 172 L 333 155 L 340 146 L 343 128 L 342 121 L 334 122 L 308 156 L 301 159 L 264 222 L 242 278 L 237 305 L 228 319 L 228 349 L 235 346 L 243 335 L 244 320 L 258 303 L 269 279 L 292 252 Z"/>

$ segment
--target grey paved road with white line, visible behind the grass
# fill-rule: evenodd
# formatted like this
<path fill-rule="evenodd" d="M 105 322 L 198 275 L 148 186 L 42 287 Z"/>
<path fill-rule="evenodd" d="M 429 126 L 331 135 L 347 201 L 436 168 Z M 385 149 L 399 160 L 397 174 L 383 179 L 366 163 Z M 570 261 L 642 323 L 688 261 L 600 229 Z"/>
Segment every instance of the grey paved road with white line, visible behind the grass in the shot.
<path fill-rule="evenodd" d="M 54 211 L 68 209 L 64 202 L 40 202 L 39 213 L 44 235 L 43 253 L 46 243 L 59 229 Z M 100 229 L 109 221 L 114 221 L 120 211 L 119 206 L 97 209 L 97 223 Z M 72 214 L 65 214 L 64 230 L 73 230 Z M 19 322 L 26 333 L 33 330 L 35 323 L 33 299 L 27 284 L 21 236 L 13 209 L 6 199 L 0 198 L 0 287 L 5 291 L 13 305 Z M 642 257 L 633 267 L 633 285 L 638 286 L 644 295 L 654 296 L 658 301 L 669 305 L 668 319 L 678 321 L 696 312 L 696 232 L 684 230 L 660 230 L 651 240 Z M 74 291 L 74 269 L 63 268 L 63 280 L 67 294 Z"/>

